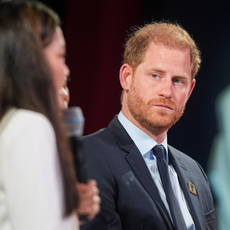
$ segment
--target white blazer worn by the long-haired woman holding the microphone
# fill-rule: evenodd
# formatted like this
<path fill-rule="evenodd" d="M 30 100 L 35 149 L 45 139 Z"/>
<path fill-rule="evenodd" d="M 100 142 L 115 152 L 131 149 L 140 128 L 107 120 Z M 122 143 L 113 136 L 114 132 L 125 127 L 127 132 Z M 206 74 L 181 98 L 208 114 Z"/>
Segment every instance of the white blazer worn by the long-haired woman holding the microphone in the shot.
<path fill-rule="evenodd" d="M 54 130 L 40 113 L 10 109 L 0 122 L 0 229 L 72 230 Z"/>

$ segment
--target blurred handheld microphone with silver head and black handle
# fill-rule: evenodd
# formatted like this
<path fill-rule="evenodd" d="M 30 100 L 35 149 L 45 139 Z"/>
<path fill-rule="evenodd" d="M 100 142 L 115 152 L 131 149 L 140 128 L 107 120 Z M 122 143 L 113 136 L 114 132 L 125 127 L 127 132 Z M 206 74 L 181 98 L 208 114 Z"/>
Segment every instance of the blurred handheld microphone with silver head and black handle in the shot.
<path fill-rule="evenodd" d="M 77 179 L 81 183 L 86 183 L 88 180 L 88 171 L 82 141 L 80 140 L 84 131 L 85 118 L 80 107 L 70 107 L 64 110 L 63 116 L 70 138 Z"/>

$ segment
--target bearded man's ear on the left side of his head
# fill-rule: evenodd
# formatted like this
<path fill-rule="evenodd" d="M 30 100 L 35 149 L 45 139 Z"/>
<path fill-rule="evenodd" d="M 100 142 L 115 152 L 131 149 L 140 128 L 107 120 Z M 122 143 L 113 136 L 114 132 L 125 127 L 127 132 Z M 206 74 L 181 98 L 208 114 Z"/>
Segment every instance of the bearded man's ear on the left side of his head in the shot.
<path fill-rule="evenodd" d="M 132 68 L 129 64 L 124 64 L 120 68 L 120 83 L 124 90 L 129 90 L 132 82 Z"/>

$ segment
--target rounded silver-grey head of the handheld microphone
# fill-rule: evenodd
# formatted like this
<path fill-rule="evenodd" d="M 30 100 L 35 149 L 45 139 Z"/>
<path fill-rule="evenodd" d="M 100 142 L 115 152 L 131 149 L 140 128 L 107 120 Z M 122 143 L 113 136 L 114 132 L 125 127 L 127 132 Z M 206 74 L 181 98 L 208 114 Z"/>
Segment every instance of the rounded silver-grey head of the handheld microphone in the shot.
<path fill-rule="evenodd" d="M 85 118 L 80 107 L 69 107 L 63 113 L 69 136 L 81 137 L 84 131 Z"/>

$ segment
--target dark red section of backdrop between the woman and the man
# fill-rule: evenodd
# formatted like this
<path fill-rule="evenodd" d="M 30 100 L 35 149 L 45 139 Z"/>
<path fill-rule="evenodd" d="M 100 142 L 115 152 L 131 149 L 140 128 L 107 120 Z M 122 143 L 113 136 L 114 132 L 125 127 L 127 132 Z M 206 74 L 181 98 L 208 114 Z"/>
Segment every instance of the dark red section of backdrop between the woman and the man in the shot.
<path fill-rule="evenodd" d="M 66 1 L 64 33 L 71 70 L 70 106 L 80 106 L 85 134 L 119 113 L 119 69 L 130 27 L 139 25 L 141 0 Z"/>

